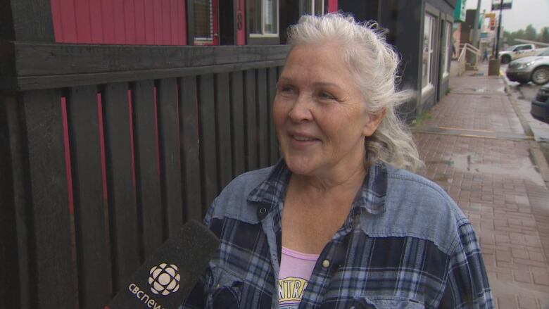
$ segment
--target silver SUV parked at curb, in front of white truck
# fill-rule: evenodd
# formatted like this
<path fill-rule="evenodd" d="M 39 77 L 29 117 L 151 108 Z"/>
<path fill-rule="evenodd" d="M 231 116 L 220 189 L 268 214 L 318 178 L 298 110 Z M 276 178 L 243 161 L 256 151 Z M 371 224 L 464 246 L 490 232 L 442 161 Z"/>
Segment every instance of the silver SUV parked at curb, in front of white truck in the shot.
<path fill-rule="evenodd" d="M 547 84 L 549 82 L 549 48 L 536 56 L 512 61 L 505 71 L 507 78 L 513 82 L 526 84 Z"/>

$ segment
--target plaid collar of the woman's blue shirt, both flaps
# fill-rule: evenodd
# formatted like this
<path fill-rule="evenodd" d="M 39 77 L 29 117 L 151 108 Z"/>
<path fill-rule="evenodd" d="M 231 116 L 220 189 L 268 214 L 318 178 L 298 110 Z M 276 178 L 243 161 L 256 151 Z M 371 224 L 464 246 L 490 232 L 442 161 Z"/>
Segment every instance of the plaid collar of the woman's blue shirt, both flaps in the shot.
<path fill-rule="evenodd" d="M 279 203 L 284 202 L 286 187 L 291 172 L 281 158 L 270 175 L 255 187 L 248 195 L 248 201 L 261 203 L 258 210 L 260 220 L 270 213 Z M 387 191 L 387 168 L 385 163 L 378 161 L 370 165 L 368 173 L 362 183 L 362 188 L 353 201 L 351 213 L 365 211 L 371 215 L 385 213 L 385 196 Z"/>

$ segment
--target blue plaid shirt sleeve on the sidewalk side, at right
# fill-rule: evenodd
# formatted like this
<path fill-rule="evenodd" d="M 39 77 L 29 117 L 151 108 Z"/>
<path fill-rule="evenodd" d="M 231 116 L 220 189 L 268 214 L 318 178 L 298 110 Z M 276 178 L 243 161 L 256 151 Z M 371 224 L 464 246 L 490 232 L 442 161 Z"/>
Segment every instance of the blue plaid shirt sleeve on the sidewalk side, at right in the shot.
<path fill-rule="evenodd" d="M 450 256 L 439 308 L 494 308 L 479 242 L 469 220 L 457 224 L 459 239 Z"/>

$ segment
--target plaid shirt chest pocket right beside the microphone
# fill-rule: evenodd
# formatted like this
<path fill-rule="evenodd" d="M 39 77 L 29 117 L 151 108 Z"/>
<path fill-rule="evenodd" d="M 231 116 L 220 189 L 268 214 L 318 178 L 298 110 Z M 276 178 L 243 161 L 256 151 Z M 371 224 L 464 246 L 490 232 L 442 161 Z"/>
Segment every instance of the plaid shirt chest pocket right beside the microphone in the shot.
<path fill-rule="evenodd" d="M 240 308 L 240 295 L 244 281 L 221 267 L 213 267 L 212 276 L 213 284 L 208 297 L 208 308 Z"/>

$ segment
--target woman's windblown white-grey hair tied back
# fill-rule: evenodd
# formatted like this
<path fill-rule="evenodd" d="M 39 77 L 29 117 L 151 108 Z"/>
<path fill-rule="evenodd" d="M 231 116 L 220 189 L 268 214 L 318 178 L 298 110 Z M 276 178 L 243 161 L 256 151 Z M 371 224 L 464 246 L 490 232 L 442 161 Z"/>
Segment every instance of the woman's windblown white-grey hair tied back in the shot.
<path fill-rule="evenodd" d="M 368 113 L 379 115 L 385 111 L 376 132 L 365 139 L 367 164 L 381 160 L 398 168 L 416 170 L 423 163 L 408 126 L 395 113 L 395 108 L 410 99 L 413 92 L 397 90 L 398 54 L 381 32 L 375 22 L 357 23 L 352 16 L 342 13 L 304 15 L 297 25 L 289 28 L 288 42 L 291 49 L 301 44 L 338 42 Z"/>

